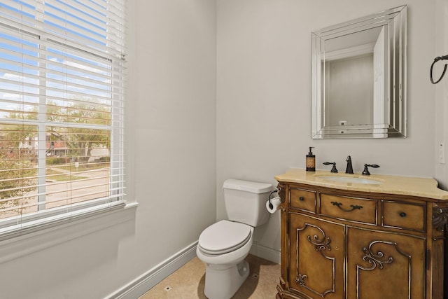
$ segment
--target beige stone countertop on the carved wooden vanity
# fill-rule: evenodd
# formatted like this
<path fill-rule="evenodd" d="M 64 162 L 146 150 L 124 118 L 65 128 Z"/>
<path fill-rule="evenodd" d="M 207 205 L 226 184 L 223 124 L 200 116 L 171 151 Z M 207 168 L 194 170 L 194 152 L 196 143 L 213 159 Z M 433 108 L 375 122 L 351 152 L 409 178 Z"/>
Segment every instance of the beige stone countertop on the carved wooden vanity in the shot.
<path fill-rule="evenodd" d="M 325 176 L 326 178 L 322 178 Z M 332 181 L 328 176 L 344 176 L 347 178 L 367 179 L 377 181 L 374 183 L 353 183 L 344 181 Z M 430 178 L 420 178 L 413 176 L 392 176 L 386 174 L 371 174 L 365 176 L 362 174 L 344 174 L 331 173 L 330 171 L 316 170 L 316 172 L 307 172 L 305 169 L 291 168 L 286 174 L 275 176 L 277 181 L 289 183 L 306 183 L 313 186 L 327 188 L 337 188 L 342 190 L 356 190 L 370 193 L 389 193 L 398 195 L 412 195 L 419 197 L 428 197 L 435 200 L 448 200 L 448 191 L 437 188 L 437 181 Z"/>

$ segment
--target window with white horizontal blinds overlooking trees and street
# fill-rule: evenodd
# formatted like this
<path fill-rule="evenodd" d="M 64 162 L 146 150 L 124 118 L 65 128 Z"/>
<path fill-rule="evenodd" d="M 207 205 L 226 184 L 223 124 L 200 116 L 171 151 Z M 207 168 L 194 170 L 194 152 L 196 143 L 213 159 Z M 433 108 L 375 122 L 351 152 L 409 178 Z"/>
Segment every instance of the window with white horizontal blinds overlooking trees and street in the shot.
<path fill-rule="evenodd" d="M 125 0 L 0 3 L 0 237 L 123 206 Z"/>

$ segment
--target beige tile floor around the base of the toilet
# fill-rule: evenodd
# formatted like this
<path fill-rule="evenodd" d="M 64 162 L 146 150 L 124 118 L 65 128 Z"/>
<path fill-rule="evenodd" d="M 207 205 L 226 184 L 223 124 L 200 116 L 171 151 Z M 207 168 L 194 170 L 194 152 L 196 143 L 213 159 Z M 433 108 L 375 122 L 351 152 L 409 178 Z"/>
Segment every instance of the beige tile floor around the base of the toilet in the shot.
<path fill-rule="evenodd" d="M 232 299 L 273 299 L 280 277 L 280 265 L 249 254 L 249 277 Z M 207 299 L 204 295 L 205 264 L 193 258 L 176 272 L 160 281 L 139 299 Z"/>

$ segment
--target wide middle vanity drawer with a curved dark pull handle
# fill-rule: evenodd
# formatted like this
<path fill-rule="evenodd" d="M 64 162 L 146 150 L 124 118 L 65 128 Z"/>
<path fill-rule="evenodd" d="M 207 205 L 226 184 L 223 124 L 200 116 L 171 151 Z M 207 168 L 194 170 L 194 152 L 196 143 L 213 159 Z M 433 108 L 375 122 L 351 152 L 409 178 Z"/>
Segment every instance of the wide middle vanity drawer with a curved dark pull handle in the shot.
<path fill-rule="evenodd" d="M 360 223 L 377 224 L 377 200 L 321 194 L 321 214 Z"/>

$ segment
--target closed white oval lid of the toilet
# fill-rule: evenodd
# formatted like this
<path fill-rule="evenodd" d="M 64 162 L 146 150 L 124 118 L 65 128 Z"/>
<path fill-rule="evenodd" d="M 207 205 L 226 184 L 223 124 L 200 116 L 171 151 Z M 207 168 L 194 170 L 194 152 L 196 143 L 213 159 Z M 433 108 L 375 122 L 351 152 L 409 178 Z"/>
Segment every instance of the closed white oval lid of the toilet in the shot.
<path fill-rule="evenodd" d="M 206 228 L 199 237 L 204 253 L 223 254 L 239 249 L 251 239 L 251 226 L 221 220 Z"/>

